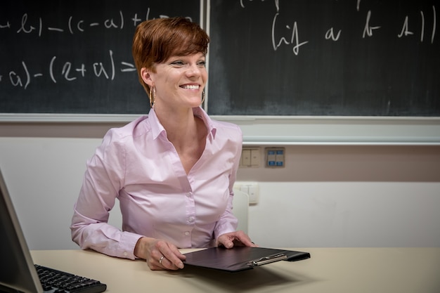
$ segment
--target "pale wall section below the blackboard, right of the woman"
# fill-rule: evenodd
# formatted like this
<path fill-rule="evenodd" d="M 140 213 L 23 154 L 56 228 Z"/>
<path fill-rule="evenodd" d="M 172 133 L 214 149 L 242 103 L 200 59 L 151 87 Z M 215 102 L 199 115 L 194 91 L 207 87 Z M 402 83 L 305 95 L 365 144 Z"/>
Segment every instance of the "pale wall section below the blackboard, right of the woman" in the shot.
<path fill-rule="evenodd" d="M 250 235 L 266 246 L 440 245 L 440 148 L 290 146 L 285 169 L 242 169 L 259 181 Z"/>

